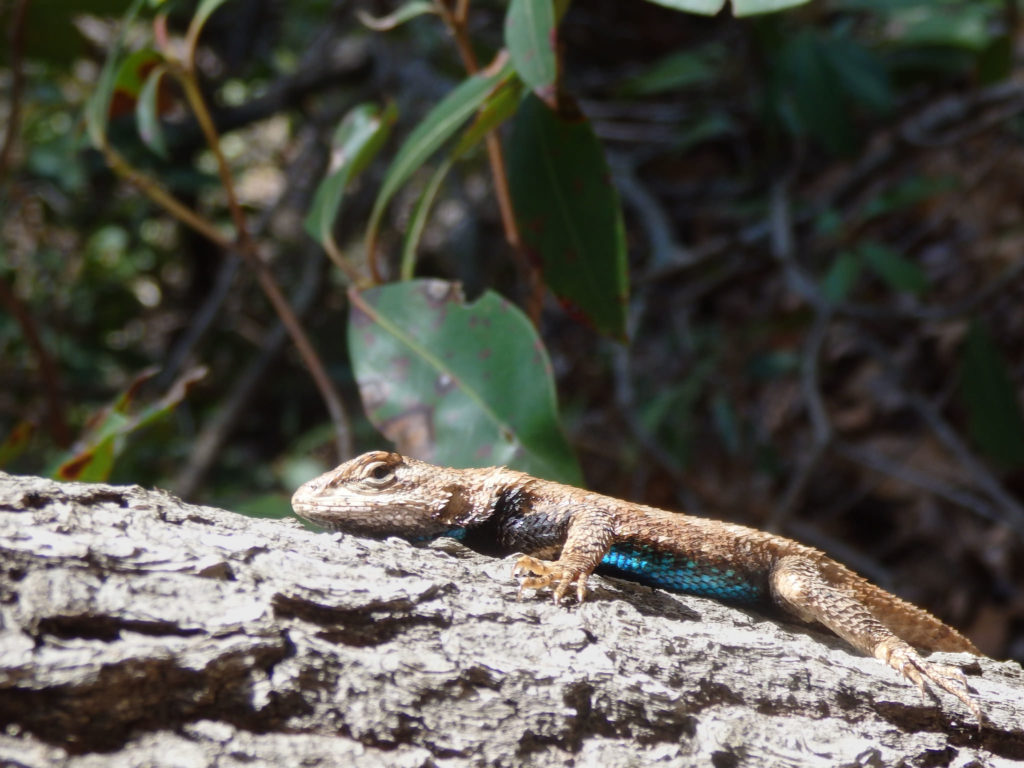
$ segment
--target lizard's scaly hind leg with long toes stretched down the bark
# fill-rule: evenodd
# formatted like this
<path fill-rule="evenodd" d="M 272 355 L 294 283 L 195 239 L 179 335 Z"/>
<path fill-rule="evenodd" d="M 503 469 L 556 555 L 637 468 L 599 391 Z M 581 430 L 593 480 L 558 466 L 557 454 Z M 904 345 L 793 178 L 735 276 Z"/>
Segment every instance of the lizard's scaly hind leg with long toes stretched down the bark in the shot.
<path fill-rule="evenodd" d="M 923 694 L 926 680 L 951 693 L 981 724 L 981 708 L 971 696 L 963 672 L 922 658 L 863 602 L 826 580 L 813 560 L 800 555 L 781 557 L 772 567 L 769 582 L 772 597 L 786 612 L 824 625 L 858 650 L 887 664 Z"/>

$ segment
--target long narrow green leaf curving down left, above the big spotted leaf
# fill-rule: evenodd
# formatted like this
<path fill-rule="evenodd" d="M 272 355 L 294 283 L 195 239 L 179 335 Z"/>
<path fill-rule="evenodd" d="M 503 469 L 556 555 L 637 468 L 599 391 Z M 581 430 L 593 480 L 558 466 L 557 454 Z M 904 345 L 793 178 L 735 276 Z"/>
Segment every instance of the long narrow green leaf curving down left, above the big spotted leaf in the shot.
<path fill-rule="evenodd" d="M 496 73 L 484 72 L 463 81 L 409 134 L 384 176 L 370 214 L 366 243 L 367 253 L 371 257 L 376 247 L 381 217 L 394 194 L 479 109 L 492 91 L 511 75 L 511 66 L 506 65 Z"/>

